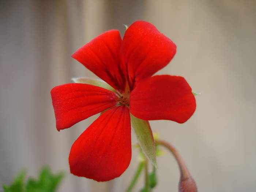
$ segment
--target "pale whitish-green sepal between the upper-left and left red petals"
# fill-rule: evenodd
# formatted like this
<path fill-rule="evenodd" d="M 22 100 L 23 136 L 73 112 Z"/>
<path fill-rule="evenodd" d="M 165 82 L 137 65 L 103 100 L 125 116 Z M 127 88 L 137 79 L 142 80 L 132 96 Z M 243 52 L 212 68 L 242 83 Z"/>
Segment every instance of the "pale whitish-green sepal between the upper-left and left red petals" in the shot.
<path fill-rule="evenodd" d="M 104 89 L 107 89 L 116 93 L 116 90 L 113 87 L 111 87 L 108 83 L 100 79 L 72 78 L 72 81 L 74 81 L 75 83 L 84 83 L 84 84 L 90 84 L 90 85 L 102 87 Z"/>

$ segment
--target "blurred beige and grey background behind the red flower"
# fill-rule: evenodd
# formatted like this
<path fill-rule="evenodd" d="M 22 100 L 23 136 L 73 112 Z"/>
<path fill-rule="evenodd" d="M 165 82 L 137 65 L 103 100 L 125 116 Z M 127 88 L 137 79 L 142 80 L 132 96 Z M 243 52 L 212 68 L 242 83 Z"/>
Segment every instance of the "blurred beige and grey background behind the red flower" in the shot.
<path fill-rule="evenodd" d="M 93 116 L 58 132 L 50 89 L 72 77 L 95 77 L 71 54 L 109 29 L 135 20 L 153 23 L 177 45 L 158 72 L 184 76 L 197 109 L 184 124 L 152 121 L 154 132 L 184 157 L 200 192 L 256 191 L 256 1 L 28 0 L 0 1 L 0 184 L 43 165 L 66 177 L 60 192 L 121 192 L 137 166 L 110 182 L 69 173 L 72 143 Z M 133 135 L 132 142 L 136 143 Z M 169 153 L 159 157 L 155 192 L 177 191 L 179 172 Z M 135 191 L 143 186 L 143 176 Z"/>

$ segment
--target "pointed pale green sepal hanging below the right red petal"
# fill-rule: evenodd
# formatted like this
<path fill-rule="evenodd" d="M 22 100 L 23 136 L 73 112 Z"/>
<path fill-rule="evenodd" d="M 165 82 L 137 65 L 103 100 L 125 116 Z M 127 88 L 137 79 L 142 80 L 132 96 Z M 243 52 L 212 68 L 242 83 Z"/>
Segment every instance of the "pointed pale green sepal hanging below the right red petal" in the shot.
<path fill-rule="evenodd" d="M 155 162 L 155 141 L 148 121 L 139 119 L 131 114 L 131 122 L 143 153 L 157 167 Z"/>

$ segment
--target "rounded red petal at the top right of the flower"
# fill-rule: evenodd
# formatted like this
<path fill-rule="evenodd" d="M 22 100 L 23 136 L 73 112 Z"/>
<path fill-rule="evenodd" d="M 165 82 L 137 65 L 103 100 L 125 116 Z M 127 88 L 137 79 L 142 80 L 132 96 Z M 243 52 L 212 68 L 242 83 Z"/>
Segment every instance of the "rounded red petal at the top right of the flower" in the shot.
<path fill-rule="evenodd" d="M 175 53 L 176 45 L 151 23 L 136 21 L 125 32 L 121 58 L 131 84 L 165 67 Z"/>

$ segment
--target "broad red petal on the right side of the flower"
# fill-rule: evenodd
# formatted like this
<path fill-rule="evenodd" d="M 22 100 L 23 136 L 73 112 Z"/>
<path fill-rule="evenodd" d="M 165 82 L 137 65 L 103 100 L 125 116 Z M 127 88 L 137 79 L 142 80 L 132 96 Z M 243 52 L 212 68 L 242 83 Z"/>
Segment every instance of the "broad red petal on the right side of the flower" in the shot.
<path fill-rule="evenodd" d="M 187 121 L 196 109 L 195 97 L 183 77 L 153 76 L 138 83 L 130 95 L 131 113 L 144 120 Z"/>

